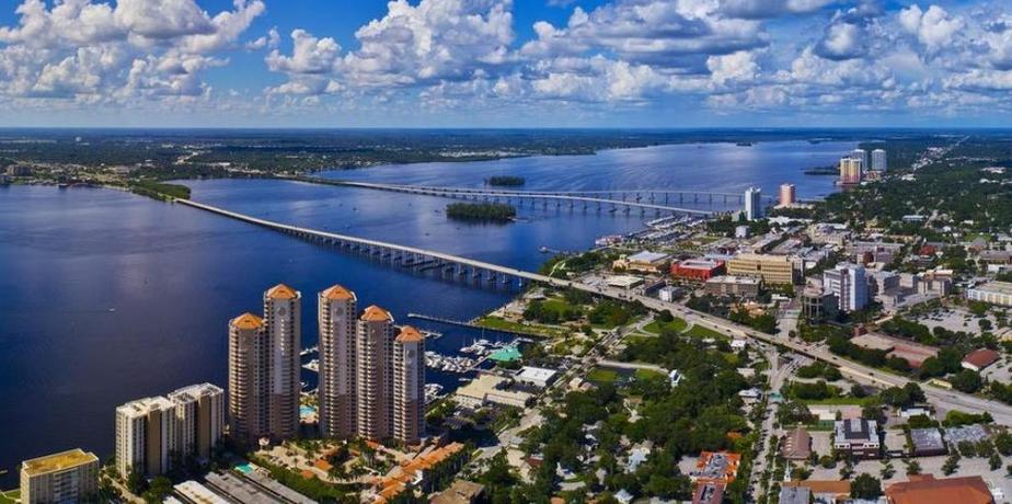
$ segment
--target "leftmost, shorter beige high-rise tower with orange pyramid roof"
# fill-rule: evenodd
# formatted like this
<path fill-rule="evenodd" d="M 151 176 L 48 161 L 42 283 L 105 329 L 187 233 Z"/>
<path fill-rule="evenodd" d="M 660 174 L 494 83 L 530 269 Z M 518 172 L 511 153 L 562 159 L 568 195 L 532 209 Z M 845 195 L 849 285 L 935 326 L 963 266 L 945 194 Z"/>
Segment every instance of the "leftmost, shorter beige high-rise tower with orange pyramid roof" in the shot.
<path fill-rule="evenodd" d="M 229 436 L 241 444 L 269 435 L 268 347 L 263 319 L 243 313 L 229 321 Z"/>

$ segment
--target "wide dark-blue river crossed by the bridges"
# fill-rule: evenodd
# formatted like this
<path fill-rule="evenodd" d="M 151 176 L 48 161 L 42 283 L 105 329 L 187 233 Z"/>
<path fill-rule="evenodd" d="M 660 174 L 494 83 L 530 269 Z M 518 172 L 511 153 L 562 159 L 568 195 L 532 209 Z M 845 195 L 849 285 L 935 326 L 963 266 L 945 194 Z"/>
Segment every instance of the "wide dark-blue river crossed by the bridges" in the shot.
<path fill-rule="evenodd" d="M 833 191 L 802 170 L 835 163 L 850 142 L 662 146 L 584 157 L 536 157 L 335 171 L 377 182 L 481 185 L 519 175 L 526 188 L 671 188 L 798 197 Z M 186 182 L 193 198 L 273 220 L 536 270 L 541 247 L 579 250 L 602 234 L 642 228 L 631 215 L 520 209 L 521 221 L 448 221 L 447 201 L 268 180 Z M 704 207 L 705 208 L 705 207 Z M 419 276 L 180 205 L 99 188 L 0 187 L 0 488 L 16 485 L 20 460 L 83 447 L 113 453 L 114 409 L 194 382 L 225 383 L 231 317 L 262 309 L 279 283 L 303 293 L 303 344 L 317 340 L 315 293 L 340 283 L 363 307 L 470 319 L 511 294 Z M 475 334 L 446 333 L 452 353 Z M 432 374 L 448 387 L 457 378 Z"/>

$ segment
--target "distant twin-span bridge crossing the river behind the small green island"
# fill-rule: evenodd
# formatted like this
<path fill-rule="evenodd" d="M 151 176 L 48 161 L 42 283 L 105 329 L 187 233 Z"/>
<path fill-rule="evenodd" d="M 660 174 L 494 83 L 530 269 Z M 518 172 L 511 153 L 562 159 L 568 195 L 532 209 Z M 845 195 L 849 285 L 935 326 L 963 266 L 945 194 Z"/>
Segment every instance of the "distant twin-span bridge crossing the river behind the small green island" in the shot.
<path fill-rule="evenodd" d="M 682 192 L 682 191 L 561 191 L 561 192 L 540 192 L 540 191 L 504 191 L 504 190 L 483 190 L 483 188 L 469 188 L 469 187 L 440 187 L 440 186 L 429 186 L 429 185 L 404 185 L 404 184 L 379 184 L 373 182 L 352 182 L 352 181 L 338 181 L 338 180 L 329 180 L 320 179 L 315 176 L 296 176 L 289 177 L 290 180 L 307 182 L 311 184 L 323 184 L 323 185 L 337 185 L 344 187 L 358 187 L 358 188 L 368 188 L 377 191 L 390 191 L 394 193 L 406 193 L 406 194 L 418 194 L 423 196 L 437 196 L 437 197 L 448 197 L 455 199 L 479 199 L 479 198 L 503 198 L 503 199 L 530 199 L 530 201 L 542 201 L 545 205 L 548 201 L 556 202 L 556 206 L 562 203 L 568 203 L 571 207 L 575 204 L 583 204 L 584 208 L 588 204 L 596 205 L 598 209 L 601 206 L 610 207 L 624 207 L 624 208 L 639 208 L 641 210 L 654 210 L 657 213 L 671 213 L 671 214 L 688 214 L 697 216 L 710 216 L 713 215 L 713 210 L 701 210 L 697 208 L 682 208 L 678 206 L 672 206 L 667 204 L 667 197 L 665 197 L 665 204 L 656 203 L 656 194 L 678 194 L 679 203 L 686 203 L 683 197 L 686 195 L 691 195 L 692 197 L 689 203 L 714 203 L 720 202 L 723 198 L 724 203 L 728 203 L 728 199 L 736 201 L 740 203 L 744 197 L 740 194 L 733 193 L 693 193 L 693 192 Z M 641 194 L 649 195 L 647 202 L 643 202 L 643 196 Z M 622 199 L 616 199 L 614 197 L 601 197 L 603 195 L 613 195 L 622 194 Z M 626 201 L 625 195 L 634 194 L 635 199 Z M 702 198 L 700 198 L 702 196 Z M 716 199 L 715 199 L 716 198 Z"/>

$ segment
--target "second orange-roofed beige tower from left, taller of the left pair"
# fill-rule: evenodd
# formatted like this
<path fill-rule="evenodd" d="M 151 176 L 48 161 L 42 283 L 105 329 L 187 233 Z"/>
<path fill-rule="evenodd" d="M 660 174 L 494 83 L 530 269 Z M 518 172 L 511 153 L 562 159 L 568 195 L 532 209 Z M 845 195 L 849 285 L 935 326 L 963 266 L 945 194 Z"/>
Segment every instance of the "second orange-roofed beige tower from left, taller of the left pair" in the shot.
<path fill-rule="evenodd" d="M 267 431 L 275 439 L 299 433 L 299 353 L 302 351 L 302 295 L 278 284 L 264 293 L 267 333 Z"/>

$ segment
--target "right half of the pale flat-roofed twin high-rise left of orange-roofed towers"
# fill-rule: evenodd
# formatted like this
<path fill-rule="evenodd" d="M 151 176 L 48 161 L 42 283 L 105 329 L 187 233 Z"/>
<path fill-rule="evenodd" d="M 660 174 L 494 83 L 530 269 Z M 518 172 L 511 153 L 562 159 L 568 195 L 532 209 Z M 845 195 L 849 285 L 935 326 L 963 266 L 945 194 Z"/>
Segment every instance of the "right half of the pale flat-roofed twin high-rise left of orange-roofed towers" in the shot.
<path fill-rule="evenodd" d="M 169 394 L 179 422 L 176 446 L 185 460 L 207 460 L 225 432 L 225 390 L 211 383 L 184 387 Z"/>

